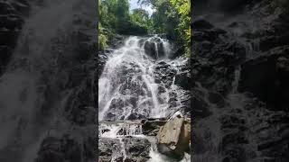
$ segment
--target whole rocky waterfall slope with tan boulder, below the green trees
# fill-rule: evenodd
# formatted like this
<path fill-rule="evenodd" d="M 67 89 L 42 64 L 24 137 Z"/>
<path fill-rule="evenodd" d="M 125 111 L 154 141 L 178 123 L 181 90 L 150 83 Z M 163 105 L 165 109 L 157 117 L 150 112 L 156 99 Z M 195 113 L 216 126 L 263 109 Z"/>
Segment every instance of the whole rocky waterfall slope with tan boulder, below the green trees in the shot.
<path fill-rule="evenodd" d="M 188 58 L 159 35 L 119 38 L 102 53 L 99 161 L 190 161 Z"/>

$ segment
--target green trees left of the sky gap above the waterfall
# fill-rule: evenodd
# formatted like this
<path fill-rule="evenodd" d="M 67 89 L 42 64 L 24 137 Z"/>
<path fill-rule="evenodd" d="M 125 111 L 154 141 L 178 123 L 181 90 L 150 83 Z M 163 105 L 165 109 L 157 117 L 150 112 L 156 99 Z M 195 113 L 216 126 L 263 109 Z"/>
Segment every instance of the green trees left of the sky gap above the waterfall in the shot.
<path fill-rule="evenodd" d="M 128 0 L 98 0 L 98 40 L 99 48 L 104 48 L 107 40 L 115 34 L 144 35 L 152 30 L 152 21 L 143 9 L 129 13 Z"/>

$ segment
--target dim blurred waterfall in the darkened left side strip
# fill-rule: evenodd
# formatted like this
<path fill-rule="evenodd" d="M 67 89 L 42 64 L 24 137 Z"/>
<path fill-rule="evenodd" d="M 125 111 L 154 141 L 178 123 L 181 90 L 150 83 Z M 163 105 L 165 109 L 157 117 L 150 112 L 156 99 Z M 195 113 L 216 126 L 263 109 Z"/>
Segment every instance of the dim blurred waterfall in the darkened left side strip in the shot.
<path fill-rule="evenodd" d="M 66 118 L 70 112 L 63 108 L 69 107 L 67 101 L 81 85 L 70 86 L 76 80 L 71 75 L 72 69 L 84 67 L 86 62 L 82 59 L 79 63 L 79 56 L 84 56 L 86 49 L 79 53 L 76 50 L 77 43 L 84 44 L 77 34 L 90 39 L 87 29 L 95 31 L 94 26 L 89 27 L 95 20 L 95 14 L 91 14 L 95 11 L 94 2 L 54 0 L 29 4 L 30 16 L 23 24 L 5 73 L 0 76 L 0 159 L 3 161 L 34 161 L 39 151 L 45 150 L 43 139 L 61 137 L 68 130 L 70 135 L 78 131 L 71 129 L 76 124 L 70 123 Z M 86 24 L 76 25 L 76 19 Z M 79 143 L 83 141 L 79 139 Z"/>

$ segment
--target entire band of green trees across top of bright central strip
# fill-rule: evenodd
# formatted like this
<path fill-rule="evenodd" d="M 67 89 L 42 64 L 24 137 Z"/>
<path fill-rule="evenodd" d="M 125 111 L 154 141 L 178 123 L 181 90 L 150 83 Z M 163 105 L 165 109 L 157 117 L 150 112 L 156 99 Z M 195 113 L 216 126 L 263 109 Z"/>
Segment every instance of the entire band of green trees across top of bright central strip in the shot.
<path fill-rule="evenodd" d="M 191 1 L 190 0 L 139 0 L 142 5 L 152 5 L 154 13 L 150 16 L 144 9 L 129 12 L 128 0 L 99 1 L 99 48 L 107 46 L 117 34 L 144 35 L 165 33 L 168 38 L 182 45 L 185 54 L 191 47 Z"/>

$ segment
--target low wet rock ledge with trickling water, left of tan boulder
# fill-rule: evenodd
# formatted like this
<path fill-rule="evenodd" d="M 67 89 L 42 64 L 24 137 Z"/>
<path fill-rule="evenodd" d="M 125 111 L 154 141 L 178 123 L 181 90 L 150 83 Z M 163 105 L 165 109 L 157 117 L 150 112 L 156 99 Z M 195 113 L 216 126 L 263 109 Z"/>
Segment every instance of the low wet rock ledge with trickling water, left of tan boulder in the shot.
<path fill-rule="evenodd" d="M 145 162 L 152 158 L 155 136 L 165 119 L 101 121 L 98 128 L 99 161 Z"/>

